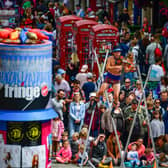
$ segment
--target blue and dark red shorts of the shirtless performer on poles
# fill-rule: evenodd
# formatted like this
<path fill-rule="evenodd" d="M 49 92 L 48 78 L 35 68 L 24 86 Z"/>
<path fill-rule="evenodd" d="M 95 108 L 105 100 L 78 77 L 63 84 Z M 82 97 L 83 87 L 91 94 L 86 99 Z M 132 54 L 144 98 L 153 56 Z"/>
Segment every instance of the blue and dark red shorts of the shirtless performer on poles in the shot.
<path fill-rule="evenodd" d="M 120 83 L 121 76 L 120 75 L 112 75 L 111 73 L 107 72 L 104 75 L 104 82 L 108 84 L 117 84 Z"/>

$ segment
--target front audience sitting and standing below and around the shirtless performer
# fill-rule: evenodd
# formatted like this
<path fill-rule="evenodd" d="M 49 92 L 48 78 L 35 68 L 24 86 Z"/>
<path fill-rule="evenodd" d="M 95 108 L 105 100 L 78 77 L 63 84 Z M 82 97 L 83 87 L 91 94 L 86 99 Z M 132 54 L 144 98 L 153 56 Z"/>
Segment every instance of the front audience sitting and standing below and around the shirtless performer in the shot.
<path fill-rule="evenodd" d="M 56 160 L 61 163 L 80 164 L 83 156 L 84 165 L 89 160 L 95 166 L 100 167 L 109 164 L 120 165 L 121 155 L 112 118 L 115 121 L 120 147 L 123 151 L 138 108 L 138 102 L 143 96 L 142 81 L 136 80 L 131 84 L 131 80 L 125 78 L 120 88 L 119 103 L 115 105 L 113 103 L 113 88 L 108 89 L 108 99 L 105 95 L 97 96 L 97 80 L 94 79 L 96 75 L 88 72 L 87 65 L 83 65 L 80 72 L 71 81 L 66 80 L 65 75 L 69 75 L 66 74 L 66 71 L 59 68 L 57 72 L 59 73 L 56 74 L 54 82 L 57 91 L 56 97 L 52 99 L 52 105 L 59 117 L 52 121 L 53 156 L 56 156 Z M 158 97 L 154 96 L 152 92 L 154 90 L 150 90 L 150 86 L 148 86 L 149 90 L 145 90 L 148 114 L 144 101 L 140 103 L 138 108 L 128 145 L 128 155 L 125 159 L 132 166 L 154 163 L 154 147 L 151 143 L 149 124 L 159 164 L 168 166 L 168 92 L 161 82 L 158 84 L 161 88 L 164 87 L 158 95 L 157 92 L 155 93 L 155 96 Z M 113 107 L 112 111 L 111 107 Z M 89 134 L 88 128 L 93 111 L 94 117 Z M 148 119 L 150 123 L 148 123 Z M 88 134 L 89 139 L 86 144 Z M 83 154 L 84 145 L 86 145 L 85 154 Z M 64 150 L 67 151 L 67 157 L 64 156 Z"/>

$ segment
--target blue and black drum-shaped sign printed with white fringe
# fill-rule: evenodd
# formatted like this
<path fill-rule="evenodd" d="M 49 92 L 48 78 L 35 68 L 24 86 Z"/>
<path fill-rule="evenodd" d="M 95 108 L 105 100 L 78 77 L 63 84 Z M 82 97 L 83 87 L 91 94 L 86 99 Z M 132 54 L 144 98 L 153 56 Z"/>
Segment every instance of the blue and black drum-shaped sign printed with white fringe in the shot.
<path fill-rule="evenodd" d="M 46 108 L 52 83 L 52 52 L 44 46 L 30 50 L 29 46 L 7 48 L 0 44 L 0 109 Z"/>

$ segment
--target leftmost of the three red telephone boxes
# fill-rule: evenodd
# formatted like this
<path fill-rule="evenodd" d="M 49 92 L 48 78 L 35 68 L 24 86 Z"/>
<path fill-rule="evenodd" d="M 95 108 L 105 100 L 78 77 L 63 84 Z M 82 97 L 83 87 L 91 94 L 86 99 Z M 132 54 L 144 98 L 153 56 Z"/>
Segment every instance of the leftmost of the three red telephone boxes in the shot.
<path fill-rule="evenodd" d="M 78 20 L 82 20 L 82 18 L 75 15 L 61 16 L 57 20 L 56 54 L 63 69 L 66 69 L 71 59 L 73 24 Z"/>

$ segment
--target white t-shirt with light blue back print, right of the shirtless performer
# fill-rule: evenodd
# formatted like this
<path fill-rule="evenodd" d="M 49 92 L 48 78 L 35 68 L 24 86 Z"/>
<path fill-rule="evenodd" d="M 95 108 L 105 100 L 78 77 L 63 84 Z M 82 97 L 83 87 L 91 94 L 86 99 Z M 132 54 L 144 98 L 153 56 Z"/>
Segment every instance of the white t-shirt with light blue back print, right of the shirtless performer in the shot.
<path fill-rule="evenodd" d="M 162 76 L 164 76 L 163 68 L 160 65 L 153 64 L 149 81 L 160 81 Z"/>

